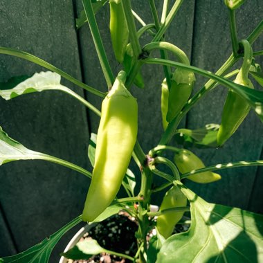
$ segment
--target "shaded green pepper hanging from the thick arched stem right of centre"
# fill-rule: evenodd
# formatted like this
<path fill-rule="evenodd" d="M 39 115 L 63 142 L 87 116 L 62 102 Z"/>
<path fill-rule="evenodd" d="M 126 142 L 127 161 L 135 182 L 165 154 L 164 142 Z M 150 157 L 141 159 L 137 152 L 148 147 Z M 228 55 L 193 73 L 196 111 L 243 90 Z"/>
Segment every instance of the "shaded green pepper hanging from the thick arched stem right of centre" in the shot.
<path fill-rule="evenodd" d="M 172 75 L 172 84 L 169 91 L 166 120 L 168 123 L 180 113 L 188 101 L 194 87 L 194 73 L 185 69 L 176 69 Z"/>

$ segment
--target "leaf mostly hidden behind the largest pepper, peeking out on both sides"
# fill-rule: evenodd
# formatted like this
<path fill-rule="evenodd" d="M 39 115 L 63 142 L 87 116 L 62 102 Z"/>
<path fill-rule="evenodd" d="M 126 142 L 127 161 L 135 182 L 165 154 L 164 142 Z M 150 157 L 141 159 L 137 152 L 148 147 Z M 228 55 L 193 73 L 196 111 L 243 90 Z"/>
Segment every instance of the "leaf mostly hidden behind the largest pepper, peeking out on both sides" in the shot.
<path fill-rule="evenodd" d="M 88 147 L 88 156 L 92 167 L 94 167 L 94 163 L 95 163 L 96 143 L 97 143 L 97 134 L 91 133 L 91 139 L 89 140 L 89 147 Z M 127 169 L 127 172 L 123 179 L 123 187 L 126 190 L 129 190 L 129 192 L 133 197 L 134 197 L 135 185 L 136 185 L 135 175 L 133 172 L 131 172 L 131 170 Z"/>

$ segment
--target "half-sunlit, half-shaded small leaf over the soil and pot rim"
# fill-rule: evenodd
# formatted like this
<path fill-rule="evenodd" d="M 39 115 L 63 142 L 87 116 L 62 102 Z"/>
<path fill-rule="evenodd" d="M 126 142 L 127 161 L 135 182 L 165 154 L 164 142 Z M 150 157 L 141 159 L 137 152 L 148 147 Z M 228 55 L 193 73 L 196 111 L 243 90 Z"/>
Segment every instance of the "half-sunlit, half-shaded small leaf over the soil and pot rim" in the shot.
<path fill-rule="evenodd" d="M 95 239 L 85 239 L 61 255 L 71 260 L 89 260 L 91 256 L 103 252 L 107 252 L 107 250 L 102 248 Z"/>

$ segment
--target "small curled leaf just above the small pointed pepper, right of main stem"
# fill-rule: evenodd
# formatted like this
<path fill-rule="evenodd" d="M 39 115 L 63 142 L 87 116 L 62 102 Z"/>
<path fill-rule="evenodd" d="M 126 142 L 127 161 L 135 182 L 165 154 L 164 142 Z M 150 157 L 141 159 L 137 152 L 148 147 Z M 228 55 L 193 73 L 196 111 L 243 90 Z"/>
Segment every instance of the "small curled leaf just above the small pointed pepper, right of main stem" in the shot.
<path fill-rule="evenodd" d="M 218 147 L 218 124 L 208 124 L 200 129 L 179 129 L 174 138 L 177 143 L 185 147 Z"/>

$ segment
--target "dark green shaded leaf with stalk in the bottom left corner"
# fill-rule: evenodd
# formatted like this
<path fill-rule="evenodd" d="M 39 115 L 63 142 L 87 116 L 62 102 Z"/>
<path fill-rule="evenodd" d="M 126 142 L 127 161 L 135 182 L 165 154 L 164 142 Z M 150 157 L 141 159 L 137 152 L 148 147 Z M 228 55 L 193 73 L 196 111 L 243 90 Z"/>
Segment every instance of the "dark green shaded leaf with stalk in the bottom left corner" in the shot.
<path fill-rule="evenodd" d="M 13 263 L 35 263 L 41 262 L 46 263 L 49 260 L 51 252 L 55 244 L 60 240 L 60 238 L 71 228 L 76 226 L 82 221 L 81 215 L 70 221 L 66 226 L 63 226 L 56 233 L 44 239 L 41 243 L 32 246 L 27 251 L 21 252 L 17 255 L 12 255 L 10 257 L 3 257 L 0 262 L 13 262 Z"/>

